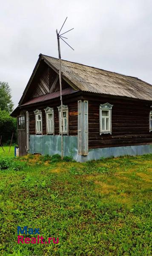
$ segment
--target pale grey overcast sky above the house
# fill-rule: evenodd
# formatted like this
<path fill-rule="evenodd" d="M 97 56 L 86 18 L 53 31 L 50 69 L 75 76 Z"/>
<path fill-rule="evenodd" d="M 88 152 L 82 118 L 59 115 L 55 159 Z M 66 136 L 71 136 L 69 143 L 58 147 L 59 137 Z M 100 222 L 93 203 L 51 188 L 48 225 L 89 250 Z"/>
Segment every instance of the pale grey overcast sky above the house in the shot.
<path fill-rule="evenodd" d="M 71 50 L 61 57 L 152 84 L 152 0 L 0 0 L 0 81 L 17 106 L 40 53 L 58 57 L 66 16 Z"/>

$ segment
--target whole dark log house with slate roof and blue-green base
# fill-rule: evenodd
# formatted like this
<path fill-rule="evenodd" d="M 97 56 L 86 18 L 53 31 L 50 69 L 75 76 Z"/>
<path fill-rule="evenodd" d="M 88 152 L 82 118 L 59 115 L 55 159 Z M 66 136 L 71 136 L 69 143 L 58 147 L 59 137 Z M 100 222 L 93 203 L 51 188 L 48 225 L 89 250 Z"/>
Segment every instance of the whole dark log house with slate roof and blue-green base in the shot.
<path fill-rule="evenodd" d="M 64 156 L 77 161 L 152 153 L 152 85 L 61 60 Z M 61 154 L 59 61 L 39 55 L 18 107 L 20 156 Z"/>

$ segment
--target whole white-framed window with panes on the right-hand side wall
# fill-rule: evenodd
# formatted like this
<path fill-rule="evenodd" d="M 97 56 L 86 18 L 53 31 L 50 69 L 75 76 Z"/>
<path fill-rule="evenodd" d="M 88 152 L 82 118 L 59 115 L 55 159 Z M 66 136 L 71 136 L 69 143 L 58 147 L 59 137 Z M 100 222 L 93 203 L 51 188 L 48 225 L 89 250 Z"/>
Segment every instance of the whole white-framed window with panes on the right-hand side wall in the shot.
<path fill-rule="evenodd" d="M 112 107 L 109 103 L 100 105 L 100 135 L 112 134 Z"/>

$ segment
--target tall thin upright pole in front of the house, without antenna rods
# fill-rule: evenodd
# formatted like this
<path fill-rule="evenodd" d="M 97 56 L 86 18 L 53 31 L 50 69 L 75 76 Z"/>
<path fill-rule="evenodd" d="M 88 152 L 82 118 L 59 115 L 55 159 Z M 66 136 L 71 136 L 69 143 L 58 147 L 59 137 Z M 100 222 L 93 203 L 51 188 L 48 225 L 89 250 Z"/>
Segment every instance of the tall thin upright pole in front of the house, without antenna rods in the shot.
<path fill-rule="evenodd" d="M 61 159 L 63 159 L 63 102 L 62 102 L 60 38 L 59 38 L 58 32 L 57 32 L 57 44 L 58 44 L 58 53 L 59 53 L 59 80 L 60 80 L 60 102 L 61 102 Z M 60 115 L 60 111 L 59 111 L 59 115 Z"/>

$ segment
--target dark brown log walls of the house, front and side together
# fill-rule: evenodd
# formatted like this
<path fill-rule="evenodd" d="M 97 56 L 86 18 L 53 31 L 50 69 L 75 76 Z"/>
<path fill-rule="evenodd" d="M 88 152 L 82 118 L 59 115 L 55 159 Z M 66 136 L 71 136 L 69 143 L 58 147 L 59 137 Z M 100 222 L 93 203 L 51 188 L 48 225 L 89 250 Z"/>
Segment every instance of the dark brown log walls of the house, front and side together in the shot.
<path fill-rule="evenodd" d="M 71 98 L 70 98 L 71 97 Z M 63 104 L 69 107 L 69 135 L 77 136 L 77 100 L 86 99 L 89 102 L 89 148 L 105 148 L 127 145 L 144 145 L 152 143 L 152 132 L 149 132 L 149 111 L 151 104 L 146 101 L 125 98 L 85 95 L 66 96 Z M 112 134 L 101 134 L 99 130 L 99 105 L 109 102 L 112 107 Z M 42 105 L 43 104 L 43 105 Z M 29 132 L 35 134 L 34 110 L 43 113 L 43 134 L 46 134 L 46 115 L 44 108 L 54 108 L 55 135 L 59 134 L 59 116 L 57 106 L 60 99 L 49 103 L 40 102 L 27 108 L 29 111 Z"/>

